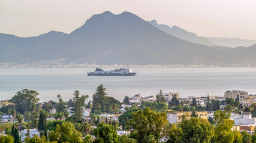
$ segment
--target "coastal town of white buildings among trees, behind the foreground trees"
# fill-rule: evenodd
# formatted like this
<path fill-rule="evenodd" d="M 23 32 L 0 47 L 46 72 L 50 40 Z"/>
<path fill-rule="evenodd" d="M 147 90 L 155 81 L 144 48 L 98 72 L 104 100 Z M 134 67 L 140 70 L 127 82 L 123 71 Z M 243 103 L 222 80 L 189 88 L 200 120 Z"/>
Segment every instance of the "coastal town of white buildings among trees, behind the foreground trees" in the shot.
<path fill-rule="evenodd" d="M 137 94 L 130 98 L 125 97 L 124 101 L 120 102 L 115 98 L 106 97 L 106 89 L 100 85 L 93 95 L 93 100 L 88 100 L 88 95 L 79 97 L 79 91 L 75 91 L 74 98 L 70 101 L 63 101 L 61 95 L 58 95 L 59 101 L 34 102 L 35 104 L 30 105 L 27 111 L 16 108 L 22 107 L 20 104 L 25 105 L 28 101 L 17 101 L 15 98 L 33 94 L 35 95 L 34 101 L 39 101 L 36 98 L 37 92 L 28 89 L 17 92 L 11 100 L 0 101 L 1 136 L 10 136 L 11 126 L 13 126 L 19 129 L 17 136 L 21 142 L 40 139 L 42 136 L 43 138 L 48 136 L 49 141 L 59 141 L 53 138 L 54 133 L 57 133 L 56 128 L 64 129 L 65 126 L 62 127 L 62 125 L 71 123 L 73 130 L 77 130 L 77 136 L 74 138 L 77 138 L 79 142 L 95 142 L 103 138 L 97 135 L 97 132 L 100 132 L 98 129 L 102 126 L 110 126 L 119 138 L 129 140 L 129 136 L 134 133 L 132 121 L 136 122 L 134 121 L 135 113 L 143 110 L 150 110 L 153 114 L 164 114 L 162 118 L 166 120 L 166 123 L 159 127 L 162 130 L 167 129 L 168 126 L 170 128 L 177 126 L 177 129 L 182 129 L 181 125 L 185 120 L 198 119 L 198 122 L 199 120 L 207 122 L 213 128 L 218 128 L 221 125 L 219 122 L 224 124 L 230 122 L 231 126 L 227 131 L 240 133 L 240 139 L 242 139 L 241 136 L 247 135 L 252 140 L 255 135 L 256 95 L 248 94 L 246 91 L 226 91 L 223 97 L 208 95 L 207 97 L 180 98 L 179 93 L 162 93 L 160 89 L 158 95 L 142 97 Z M 42 120 L 41 116 L 46 119 Z M 167 130 L 170 131 L 170 129 Z M 101 132 L 106 132 L 106 130 L 101 130 Z M 165 136 L 154 138 L 157 142 L 171 140 L 168 133 Z M 173 138 L 179 139 L 177 136 Z M 212 136 L 211 138 L 219 137 Z M 136 142 L 136 138 L 132 139 Z"/>

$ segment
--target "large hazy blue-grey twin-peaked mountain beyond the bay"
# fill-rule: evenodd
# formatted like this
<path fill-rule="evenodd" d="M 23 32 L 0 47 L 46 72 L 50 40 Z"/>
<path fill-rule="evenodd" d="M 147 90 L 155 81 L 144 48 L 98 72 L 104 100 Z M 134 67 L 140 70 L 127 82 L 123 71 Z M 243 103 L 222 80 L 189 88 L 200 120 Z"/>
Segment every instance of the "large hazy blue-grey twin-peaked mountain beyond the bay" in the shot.
<path fill-rule="evenodd" d="M 170 27 L 169 27 L 170 28 Z M 186 33 L 178 27 L 171 28 Z M 190 35 L 190 34 L 188 34 Z M 248 48 L 207 46 L 158 29 L 129 12 L 93 15 L 70 34 L 49 33 L 20 38 L 0 34 L 0 63 L 67 58 L 65 62 L 97 64 L 234 64 L 255 63 L 256 45 Z M 194 35 L 194 37 L 197 35 Z M 195 37 L 196 38 L 196 37 Z M 205 43 L 205 44 L 206 44 Z M 214 43 L 212 43 L 214 45 Z M 218 44 L 217 44 L 218 45 Z"/>

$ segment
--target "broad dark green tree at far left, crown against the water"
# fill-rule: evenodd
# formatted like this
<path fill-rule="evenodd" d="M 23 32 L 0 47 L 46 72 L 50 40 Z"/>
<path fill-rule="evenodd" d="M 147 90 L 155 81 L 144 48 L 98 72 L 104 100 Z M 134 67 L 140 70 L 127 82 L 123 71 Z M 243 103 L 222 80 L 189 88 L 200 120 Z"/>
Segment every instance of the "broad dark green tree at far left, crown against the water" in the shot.
<path fill-rule="evenodd" d="M 16 95 L 11 98 L 10 102 L 15 104 L 17 112 L 24 114 L 25 111 L 30 111 L 33 104 L 37 104 L 39 101 L 38 95 L 37 91 L 23 89 L 22 91 L 18 91 Z"/>

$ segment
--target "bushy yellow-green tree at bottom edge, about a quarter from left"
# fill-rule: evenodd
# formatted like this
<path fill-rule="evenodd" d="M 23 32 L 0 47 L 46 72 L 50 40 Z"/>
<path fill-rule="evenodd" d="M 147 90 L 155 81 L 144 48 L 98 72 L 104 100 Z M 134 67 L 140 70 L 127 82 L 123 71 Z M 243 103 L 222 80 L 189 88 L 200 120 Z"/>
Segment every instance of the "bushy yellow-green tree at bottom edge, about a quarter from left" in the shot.
<path fill-rule="evenodd" d="M 63 122 L 61 126 L 56 126 L 56 131 L 51 130 L 49 132 L 49 141 L 70 143 L 82 142 L 82 133 L 74 128 L 73 123 Z"/>

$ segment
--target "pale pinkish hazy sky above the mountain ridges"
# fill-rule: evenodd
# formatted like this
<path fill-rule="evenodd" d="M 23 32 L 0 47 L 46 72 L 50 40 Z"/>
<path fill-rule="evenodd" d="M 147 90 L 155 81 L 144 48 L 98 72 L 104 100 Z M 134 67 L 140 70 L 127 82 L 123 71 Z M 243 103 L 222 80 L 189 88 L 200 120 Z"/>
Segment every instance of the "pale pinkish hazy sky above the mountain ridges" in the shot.
<path fill-rule="evenodd" d="M 0 0 L 0 33 L 70 33 L 104 11 L 129 11 L 198 36 L 256 39 L 255 0 Z"/>

